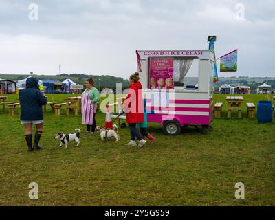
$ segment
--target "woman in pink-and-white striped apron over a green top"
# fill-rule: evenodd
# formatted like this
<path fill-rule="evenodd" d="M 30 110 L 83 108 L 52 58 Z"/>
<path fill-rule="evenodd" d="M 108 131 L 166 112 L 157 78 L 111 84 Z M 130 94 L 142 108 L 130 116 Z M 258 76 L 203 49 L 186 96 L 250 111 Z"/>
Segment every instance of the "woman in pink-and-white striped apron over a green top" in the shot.
<path fill-rule="evenodd" d="M 94 87 L 94 79 L 91 77 L 85 81 L 86 89 L 81 96 L 81 111 L 83 124 L 87 126 L 87 133 L 96 131 L 96 103 L 100 100 L 98 89 Z"/>

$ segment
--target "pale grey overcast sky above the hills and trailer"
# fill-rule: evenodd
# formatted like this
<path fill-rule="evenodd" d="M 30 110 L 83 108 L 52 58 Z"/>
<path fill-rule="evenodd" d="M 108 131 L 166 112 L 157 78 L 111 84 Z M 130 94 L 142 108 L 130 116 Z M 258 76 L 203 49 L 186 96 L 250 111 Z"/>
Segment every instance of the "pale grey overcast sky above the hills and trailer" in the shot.
<path fill-rule="evenodd" d="M 38 21 L 32 21 L 39 8 Z M 275 76 L 275 0 L 0 0 L 0 73 L 127 78 L 135 49 L 239 49 L 239 71 Z"/>

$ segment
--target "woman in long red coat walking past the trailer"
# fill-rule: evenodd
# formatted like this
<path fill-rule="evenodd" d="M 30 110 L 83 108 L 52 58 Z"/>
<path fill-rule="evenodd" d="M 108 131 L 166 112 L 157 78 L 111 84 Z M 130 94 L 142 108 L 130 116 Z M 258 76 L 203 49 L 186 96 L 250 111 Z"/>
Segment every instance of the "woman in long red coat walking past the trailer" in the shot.
<path fill-rule="evenodd" d="M 139 80 L 139 73 L 130 76 L 129 92 L 123 104 L 123 109 L 126 112 L 126 120 L 131 131 L 131 142 L 126 144 L 127 146 L 137 146 L 135 143 L 135 137 L 137 137 L 137 140 L 139 141 L 138 146 L 142 147 L 146 144 L 146 140 L 142 139 L 142 136 L 136 128 L 137 123 L 144 122 L 142 85 Z"/>

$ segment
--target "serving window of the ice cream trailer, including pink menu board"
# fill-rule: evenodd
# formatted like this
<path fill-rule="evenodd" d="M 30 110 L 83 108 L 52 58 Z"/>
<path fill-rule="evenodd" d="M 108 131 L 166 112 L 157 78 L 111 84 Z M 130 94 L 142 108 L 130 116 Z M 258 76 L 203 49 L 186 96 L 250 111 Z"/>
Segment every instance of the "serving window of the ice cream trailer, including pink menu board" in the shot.
<path fill-rule="evenodd" d="M 148 58 L 148 88 L 199 89 L 199 58 L 154 57 Z"/>

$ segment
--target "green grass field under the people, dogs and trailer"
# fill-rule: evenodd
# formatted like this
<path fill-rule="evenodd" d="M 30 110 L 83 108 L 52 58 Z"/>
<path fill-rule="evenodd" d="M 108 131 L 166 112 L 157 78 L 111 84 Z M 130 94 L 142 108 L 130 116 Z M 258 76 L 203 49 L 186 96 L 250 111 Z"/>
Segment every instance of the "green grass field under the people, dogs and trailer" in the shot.
<path fill-rule="evenodd" d="M 65 95 L 67 96 L 67 95 Z M 54 95 L 63 102 L 64 95 Z M 263 94 L 244 95 L 245 102 L 267 100 Z M 8 100 L 16 100 L 10 95 Z M 271 97 L 270 97 L 271 98 Z M 52 97 L 49 96 L 49 101 Z M 225 95 L 214 102 L 225 104 Z M 233 113 L 226 104 L 212 128 L 184 128 L 164 136 L 159 124 L 149 124 L 154 144 L 124 146 L 129 129 L 120 129 L 120 142 L 101 142 L 83 133 L 80 147 L 59 148 L 55 133 L 82 125 L 81 116 L 45 114 L 43 151 L 27 152 L 19 110 L 14 117 L 0 109 L 0 206 L 274 206 L 274 123 L 259 124 Z M 96 116 L 104 124 L 104 114 Z M 39 199 L 28 197 L 30 182 L 39 184 Z M 245 184 L 245 199 L 235 199 L 237 182 Z"/>

